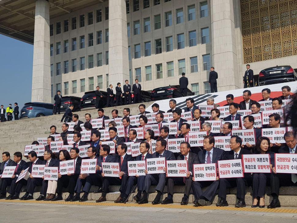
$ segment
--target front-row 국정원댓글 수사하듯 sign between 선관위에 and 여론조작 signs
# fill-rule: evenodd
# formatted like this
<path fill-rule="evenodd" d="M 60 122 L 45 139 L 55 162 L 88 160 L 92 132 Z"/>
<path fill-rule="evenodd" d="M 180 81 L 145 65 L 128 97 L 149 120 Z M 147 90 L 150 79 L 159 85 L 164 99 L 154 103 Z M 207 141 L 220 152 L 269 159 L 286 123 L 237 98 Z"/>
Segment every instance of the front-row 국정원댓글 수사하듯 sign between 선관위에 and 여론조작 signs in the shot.
<path fill-rule="evenodd" d="M 219 160 L 219 178 L 244 177 L 242 170 L 242 160 Z"/>

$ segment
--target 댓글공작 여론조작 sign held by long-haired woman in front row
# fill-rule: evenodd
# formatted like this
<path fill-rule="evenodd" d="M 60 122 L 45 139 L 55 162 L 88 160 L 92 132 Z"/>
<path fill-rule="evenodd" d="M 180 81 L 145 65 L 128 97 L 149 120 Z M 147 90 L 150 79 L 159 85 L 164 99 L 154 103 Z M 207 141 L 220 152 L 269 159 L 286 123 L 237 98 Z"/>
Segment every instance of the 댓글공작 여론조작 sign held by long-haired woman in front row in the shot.
<path fill-rule="evenodd" d="M 270 173 L 269 154 L 242 154 L 243 171 L 245 173 Z"/>

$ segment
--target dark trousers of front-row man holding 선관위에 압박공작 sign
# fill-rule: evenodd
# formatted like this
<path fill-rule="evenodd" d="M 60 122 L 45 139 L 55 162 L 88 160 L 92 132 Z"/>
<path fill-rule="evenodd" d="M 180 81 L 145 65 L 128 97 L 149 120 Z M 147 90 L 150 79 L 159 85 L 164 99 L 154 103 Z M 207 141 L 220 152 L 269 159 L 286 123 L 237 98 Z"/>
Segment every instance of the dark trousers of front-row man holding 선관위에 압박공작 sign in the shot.
<path fill-rule="evenodd" d="M 190 179 L 192 180 L 192 179 Z M 202 191 L 202 187 L 209 186 L 206 191 Z M 196 199 L 207 199 L 208 201 L 213 200 L 216 190 L 219 187 L 219 181 L 193 181 L 192 188 Z"/>

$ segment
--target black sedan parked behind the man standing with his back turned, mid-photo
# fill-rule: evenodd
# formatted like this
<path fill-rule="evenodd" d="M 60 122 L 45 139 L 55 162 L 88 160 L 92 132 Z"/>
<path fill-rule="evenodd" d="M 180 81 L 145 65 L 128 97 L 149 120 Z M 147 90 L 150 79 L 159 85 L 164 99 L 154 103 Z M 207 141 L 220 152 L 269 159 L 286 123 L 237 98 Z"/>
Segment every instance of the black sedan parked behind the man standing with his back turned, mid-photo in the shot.
<path fill-rule="evenodd" d="M 186 96 L 193 96 L 194 93 L 190 91 L 190 89 L 187 89 L 187 95 Z M 166 87 L 160 87 L 155 88 L 151 92 L 151 100 L 162 100 L 162 99 L 168 99 L 168 98 L 178 98 L 182 97 L 182 93 L 180 91 L 179 85 L 169 85 Z"/>

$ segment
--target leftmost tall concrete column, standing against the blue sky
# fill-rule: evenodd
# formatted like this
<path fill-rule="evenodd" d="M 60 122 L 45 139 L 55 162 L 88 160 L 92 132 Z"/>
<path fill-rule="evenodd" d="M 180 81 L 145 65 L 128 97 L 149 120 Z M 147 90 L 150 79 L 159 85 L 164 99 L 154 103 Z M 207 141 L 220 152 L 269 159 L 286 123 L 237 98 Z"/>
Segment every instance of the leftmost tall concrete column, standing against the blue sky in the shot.
<path fill-rule="evenodd" d="M 50 5 L 36 0 L 32 74 L 32 102 L 51 103 Z"/>

